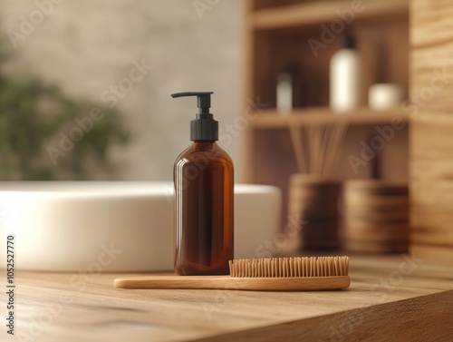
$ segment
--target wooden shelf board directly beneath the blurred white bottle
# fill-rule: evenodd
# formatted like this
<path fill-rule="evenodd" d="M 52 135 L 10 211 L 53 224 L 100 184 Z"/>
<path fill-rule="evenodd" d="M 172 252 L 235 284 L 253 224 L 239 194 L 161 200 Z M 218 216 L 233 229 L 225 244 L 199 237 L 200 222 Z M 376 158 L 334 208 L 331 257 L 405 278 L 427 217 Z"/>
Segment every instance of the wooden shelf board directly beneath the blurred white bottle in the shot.
<path fill-rule="evenodd" d="M 284 128 L 289 125 L 304 126 L 314 123 L 345 123 L 349 125 L 389 124 L 392 120 L 409 122 L 409 114 L 408 112 L 401 111 L 400 108 L 373 111 L 366 107 L 344 113 L 334 113 L 325 107 L 294 110 L 288 114 L 282 114 L 275 110 L 265 110 L 260 112 L 255 120 L 252 120 L 250 123 L 255 129 L 271 129 Z"/>

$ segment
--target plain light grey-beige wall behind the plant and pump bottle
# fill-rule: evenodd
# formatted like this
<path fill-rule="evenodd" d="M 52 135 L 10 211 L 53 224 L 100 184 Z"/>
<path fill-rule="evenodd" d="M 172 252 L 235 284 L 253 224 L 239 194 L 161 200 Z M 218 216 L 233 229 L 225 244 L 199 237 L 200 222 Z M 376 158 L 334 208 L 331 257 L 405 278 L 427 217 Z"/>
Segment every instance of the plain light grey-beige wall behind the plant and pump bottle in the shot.
<path fill-rule="evenodd" d="M 206 6 L 198 14 L 194 4 L 200 3 Z M 132 61 L 153 66 L 116 106 L 133 138 L 112 153 L 120 180 L 172 179 L 173 161 L 189 144 L 188 122 L 197 109 L 195 99 L 172 100 L 170 93 L 214 91 L 213 112 L 221 126 L 240 113 L 240 0 L 0 0 L 0 5 L 1 24 L 11 37 L 26 32 L 24 18 L 36 23 L 20 38 L 6 36 L 5 44 L 16 45 L 16 72 L 38 75 L 75 98 L 107 106 L 101 93 L 129 74 Z M 238 139 L 226 151 L 238 175 Z"/>

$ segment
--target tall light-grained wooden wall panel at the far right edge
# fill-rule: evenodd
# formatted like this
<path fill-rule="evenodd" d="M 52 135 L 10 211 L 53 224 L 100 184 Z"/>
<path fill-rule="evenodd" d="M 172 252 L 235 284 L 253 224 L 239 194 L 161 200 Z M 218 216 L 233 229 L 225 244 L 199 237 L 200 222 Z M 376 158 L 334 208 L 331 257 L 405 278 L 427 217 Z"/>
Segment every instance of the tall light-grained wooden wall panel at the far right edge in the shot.
<path fill-rule="evenodd" d="M 453 259 L 453 1 L 410 5 L 411 251 Z"/>

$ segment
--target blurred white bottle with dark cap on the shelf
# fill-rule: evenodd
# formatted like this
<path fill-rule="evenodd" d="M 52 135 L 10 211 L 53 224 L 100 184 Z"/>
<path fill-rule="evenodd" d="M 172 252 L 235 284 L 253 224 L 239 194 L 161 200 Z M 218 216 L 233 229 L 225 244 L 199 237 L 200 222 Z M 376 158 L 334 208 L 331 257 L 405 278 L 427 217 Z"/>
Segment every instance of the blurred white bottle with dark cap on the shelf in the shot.
<path fill-rule="evenodd" d="M 349 112 L 361 104 L 361 61 L 352 36 L 346 34 L 342 48 L 330 65 L 330 106 L 333 112 Z"/>

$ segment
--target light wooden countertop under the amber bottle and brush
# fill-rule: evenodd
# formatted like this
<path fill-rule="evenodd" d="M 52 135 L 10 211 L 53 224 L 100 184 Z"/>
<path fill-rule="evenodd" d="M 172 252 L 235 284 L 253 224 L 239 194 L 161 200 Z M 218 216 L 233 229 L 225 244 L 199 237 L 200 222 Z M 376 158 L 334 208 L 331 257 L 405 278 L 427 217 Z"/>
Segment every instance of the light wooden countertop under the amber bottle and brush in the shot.
<path fill-rule="evenodd" d="M 453 341 L 451 264 L 352 257 L 350 274 L 345 290 L 252 292 L 115 289 L 124 274 L 19 270 L 14 333 L 37 342 Z"/>

